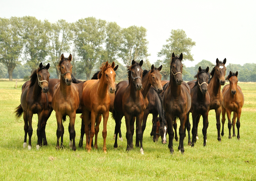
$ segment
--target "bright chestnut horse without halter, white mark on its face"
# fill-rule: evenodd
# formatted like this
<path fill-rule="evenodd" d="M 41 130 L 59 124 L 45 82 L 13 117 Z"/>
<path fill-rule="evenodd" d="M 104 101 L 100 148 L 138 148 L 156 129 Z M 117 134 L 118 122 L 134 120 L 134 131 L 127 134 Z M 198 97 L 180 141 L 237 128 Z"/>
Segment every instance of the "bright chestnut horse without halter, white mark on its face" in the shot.
<path fill-rule="evenodd" d="M 107 136 L 107 121 L 109 115 L 110 107 L 110 96 L 108 93 L 108 88 L 110 93 L 114 93 L 116 90 L 115 80 L 116 73 L 114 71 L 115 63 L 112 62 L 110 66 L 108 62 L 102 64 L 101 72 L 98 74 L 98 80 L 88 80 L 83 85 L 82 92 L 82 116 L 84 120 L 84 132 L 86 134 L 86 140 L 89 137 L 89 123 L 91 122 L 90 130 L 90 143 L 86 141 L 86 148 L 88 152 L 92 149 L 92 138 L 95 134 L 95 144 L 94 147 L 97 149 L 97 135 L 99 132 L 99 125 L 101 115 L 103 116 L 103 151 L 106 153 L 106 136 Z M 96 125 L 95 125 L 96 123 Z M 95 127 L 94 127 L 95 126 Z"/>

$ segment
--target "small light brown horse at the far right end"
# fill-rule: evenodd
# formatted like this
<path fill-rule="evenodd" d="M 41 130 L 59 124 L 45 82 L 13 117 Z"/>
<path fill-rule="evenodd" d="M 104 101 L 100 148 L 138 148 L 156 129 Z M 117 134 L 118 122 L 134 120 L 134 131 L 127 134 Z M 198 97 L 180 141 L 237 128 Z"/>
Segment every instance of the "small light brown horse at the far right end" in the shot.
<path fill-rule="evenodd" d="M 225 123 L 225 114 L 227 113 L 228 117 L 228 129 L 229 135 L 228 138 L 231 139 L 231 126 L 233 125 L 233 137 L 236 136 L 235 133 L 235 124 L 237 127 L 237 139 L 240 139 L 239 128 L 240 128 L 240 115 L 242 112 L 242 107 L 244 105 L 244 94 L 242 93 L 241 88 L 237 85 L 238 82 L 238 72 L 235 74 L 231 71 L 229 72 L 226 80 L 229 81 L 229 85 L 224 86 L 222 89 L 223 101 L 222 101 L 222 132 L 221 135 L 224 135 L 224 123 Z M 233 118 L 231 123 L 231 112 L 233 111 Z M 237 117 L 237 122 L 236 122 Z"/>

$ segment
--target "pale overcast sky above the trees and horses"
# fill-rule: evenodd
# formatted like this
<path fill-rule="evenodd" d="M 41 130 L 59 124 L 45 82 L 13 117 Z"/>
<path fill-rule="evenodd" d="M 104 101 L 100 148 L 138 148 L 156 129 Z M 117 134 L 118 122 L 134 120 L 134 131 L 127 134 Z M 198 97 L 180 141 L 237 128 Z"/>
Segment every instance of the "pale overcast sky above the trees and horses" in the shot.
<path fill-rule="evenodd" d="M 227 64 L 256 63 L 256 1 L 140 1 L 140 0 L 1 0 L 0 17 L 35 16 L 56 22 L 75 22 L 94 16 L 116 22 L 122 28 L 143 26 L 147 31 L 150 62 L 166 44 L 172 29 L 183 29 L 196 42 L 192 48 L 194 62 L 212 63 L 227 59 Z"/>

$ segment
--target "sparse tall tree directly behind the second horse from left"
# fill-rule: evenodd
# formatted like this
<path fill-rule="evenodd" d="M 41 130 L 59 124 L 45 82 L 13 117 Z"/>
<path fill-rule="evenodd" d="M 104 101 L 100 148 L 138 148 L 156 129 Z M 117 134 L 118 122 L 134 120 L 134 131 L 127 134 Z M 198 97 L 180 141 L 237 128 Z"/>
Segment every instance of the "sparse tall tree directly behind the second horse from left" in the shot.
<path fill-rule="evenodd" d="M 53 24 L 45 21 L 44 26 L 47 28 L 47 48 L 50 55 L 50 62 L 52 67 L 55 67 L 58 78 L 60 78 L 58 64 L 61 54 L 70 51 L 71 40 L 73 38 L 71 25 L 66 20 L 58 20 Z"/>

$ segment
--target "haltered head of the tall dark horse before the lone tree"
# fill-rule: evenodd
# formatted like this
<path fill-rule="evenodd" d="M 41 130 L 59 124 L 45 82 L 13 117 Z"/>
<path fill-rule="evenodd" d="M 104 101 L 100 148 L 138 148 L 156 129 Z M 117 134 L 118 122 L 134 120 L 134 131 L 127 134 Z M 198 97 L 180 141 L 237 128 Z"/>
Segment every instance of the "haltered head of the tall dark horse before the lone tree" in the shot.
<path fill-rule="evenodd" d="M 182 59 L 183 59 L 183 54 L 181 53 L 180 56 L 175 56 L 174 53 L 172 53 L 172 61 L 171 61 L 171 76 L 174 77 L 174 80 L 177 85 L 181 85 L 183 82 L 182 80 Z"/>

